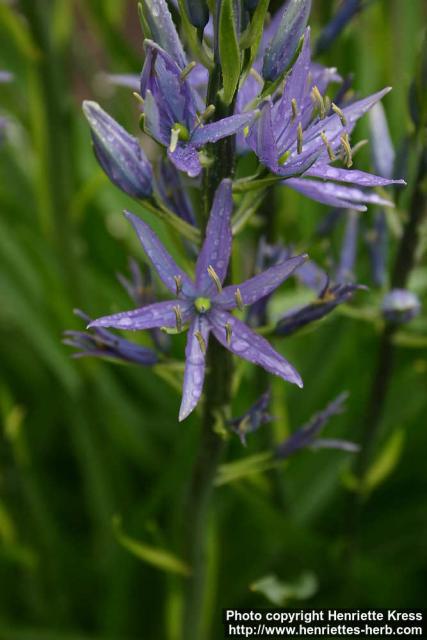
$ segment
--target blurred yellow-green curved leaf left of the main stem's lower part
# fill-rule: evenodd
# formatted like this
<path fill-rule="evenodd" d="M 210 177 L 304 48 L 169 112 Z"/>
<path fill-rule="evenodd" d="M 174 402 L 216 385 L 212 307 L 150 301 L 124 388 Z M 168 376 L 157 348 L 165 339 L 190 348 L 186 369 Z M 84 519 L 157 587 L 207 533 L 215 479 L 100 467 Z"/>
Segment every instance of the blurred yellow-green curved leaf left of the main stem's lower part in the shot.
<path fill-rule="evenodd" d="M 169 551 L 129 538 L 122 531 L 120 518 L 115 517 L 113 519 L 113 529 L 115 537 L 122 547 L 143 562 L 168 573 L 177 573 L 181 576 L 189 576 L 191 574 L 190 567 Z"/>

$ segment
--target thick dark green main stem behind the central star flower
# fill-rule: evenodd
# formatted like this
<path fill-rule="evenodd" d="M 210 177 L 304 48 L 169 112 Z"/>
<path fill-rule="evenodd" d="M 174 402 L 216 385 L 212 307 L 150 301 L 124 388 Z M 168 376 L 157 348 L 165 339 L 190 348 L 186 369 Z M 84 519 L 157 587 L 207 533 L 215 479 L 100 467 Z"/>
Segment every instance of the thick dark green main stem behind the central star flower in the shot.
<path fill-rule="evenodd" d="M 220 119 L 233 113 L 234 104 L 225 107 L 219 100 L 218 91 L 222 86 L 221 68 L 217 65 L 211 73 L 208 88 L 208 104 L 215 104 L 215 118 Z M 215 191 L 223 178 L 234 172 L 235 140 L 226 138 L 211 145 L 209 153 L 213 162 L 204 175 L 206 228 Z M 231 274 L 228 273 L 227 280 Z M 207 375 L 205 382 L 205 403 L 203 407 L 202 432 L 199 450 L 193 468 L 187 505 L 186 558 L 192 567 L 188 580 L 183 617 L 183 638 L 207 640 L 209 603 L 207 584 L 208 567 L 208 527 L 210 521 L 213 482 L 219 461 L 224 451 L 224 439 L 216 432 L 218 420 L 224 420 L 229 413 L 232 381 L 232 358 L 213 338 L 207 354 Z"/>

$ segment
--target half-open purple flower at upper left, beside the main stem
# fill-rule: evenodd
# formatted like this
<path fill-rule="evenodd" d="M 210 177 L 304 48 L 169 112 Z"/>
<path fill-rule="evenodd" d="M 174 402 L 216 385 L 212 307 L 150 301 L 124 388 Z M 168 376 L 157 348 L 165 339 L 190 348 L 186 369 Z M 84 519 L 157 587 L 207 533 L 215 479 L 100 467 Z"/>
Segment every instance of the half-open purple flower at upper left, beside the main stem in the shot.
<path fill-rule="evenodd" d="M 145 40 L 146 58 L 141 75 L 144 129 L 167 147 L 168 157 L 180 171 L 196 177 L 202 170 L 198 150 L 240 131 L 255 112 L 229 116 L 204 124 L 205 104 L 175 60 L 155 42 Z"/>

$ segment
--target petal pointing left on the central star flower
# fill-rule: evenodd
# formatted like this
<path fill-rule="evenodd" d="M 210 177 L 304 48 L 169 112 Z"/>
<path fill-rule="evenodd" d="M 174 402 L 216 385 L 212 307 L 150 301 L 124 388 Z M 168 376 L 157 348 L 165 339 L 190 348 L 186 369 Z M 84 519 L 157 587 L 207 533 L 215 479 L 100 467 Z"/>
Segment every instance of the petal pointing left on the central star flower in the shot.
<path fill-rule="evenodd" d="M 154 327 L 176 326 L 175 309 L 181 311 L 182 324 L 186 324 L 192 315 L 192 307 L 188 302 L 180 300 L 168 300 L 167 302 L 155 302 L 141 309 L 122 311 L 111 316 L 103 316 L 93 320 L 88 327 L 113 327 L 114 329 L 126 329 L 127 331 L 139 331 L 140 329 L 153 329 Z"/>

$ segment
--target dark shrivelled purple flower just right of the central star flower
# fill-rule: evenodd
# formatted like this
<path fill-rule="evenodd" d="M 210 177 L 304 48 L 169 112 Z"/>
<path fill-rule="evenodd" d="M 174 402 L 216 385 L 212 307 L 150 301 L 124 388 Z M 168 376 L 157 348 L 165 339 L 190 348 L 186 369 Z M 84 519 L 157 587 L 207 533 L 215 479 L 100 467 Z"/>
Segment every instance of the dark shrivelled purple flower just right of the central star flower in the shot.
<path fill-rule="evenodd" d="M 289 311 L 276 325 L 274 333 L 280 336 L 289 336 L 307 324 L 320 320 L 331 313 L 339 304 L 348 302 L 353 293 L 366 289 L 359 284 L 335 284 L 327 285 L 318 299 L 300 309 Z"/>

